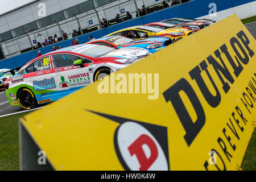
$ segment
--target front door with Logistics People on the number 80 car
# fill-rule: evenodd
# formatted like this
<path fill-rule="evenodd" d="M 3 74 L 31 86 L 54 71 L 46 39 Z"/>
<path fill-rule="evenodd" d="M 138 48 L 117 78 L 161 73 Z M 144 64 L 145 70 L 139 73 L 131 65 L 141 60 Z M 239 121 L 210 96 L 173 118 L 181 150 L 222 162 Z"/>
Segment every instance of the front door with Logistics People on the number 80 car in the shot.
<path fill-rule="evenodd" d="M 57 88 L 61 91 L 59 94 L 67 95 L 93 82 L 88 68 L 93 61 L 71 53 L 57 53 L 52 55 L 52 59 L 53 75 L 56 78 Z M 74 66 L 74 61 L 80 59 L 83 64 Z"/>

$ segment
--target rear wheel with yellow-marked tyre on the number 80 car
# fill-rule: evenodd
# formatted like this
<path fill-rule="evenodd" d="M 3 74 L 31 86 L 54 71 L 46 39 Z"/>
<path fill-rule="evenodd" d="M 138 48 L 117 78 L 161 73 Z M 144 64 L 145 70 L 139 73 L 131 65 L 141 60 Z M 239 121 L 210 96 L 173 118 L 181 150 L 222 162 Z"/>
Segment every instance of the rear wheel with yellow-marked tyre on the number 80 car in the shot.
<path fill-rule="evenodd" d="M 37 102 L 34 93 L 30 89 L 22 88 L 18 93 L 19 105 L 24 109 L 29 110 L 36 107 Z"/>

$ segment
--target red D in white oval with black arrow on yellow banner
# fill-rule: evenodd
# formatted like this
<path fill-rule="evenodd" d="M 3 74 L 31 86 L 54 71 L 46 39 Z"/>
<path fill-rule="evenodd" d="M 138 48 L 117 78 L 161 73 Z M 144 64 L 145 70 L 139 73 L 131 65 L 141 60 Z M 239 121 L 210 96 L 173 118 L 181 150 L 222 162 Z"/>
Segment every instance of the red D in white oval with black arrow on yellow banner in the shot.
<path fill-rule="evenodd" d="M 167 127 L 86 111 L 120 124 L 115 130 L 114 146 L 123 168 L 131 171 L 169 170 Z"/>

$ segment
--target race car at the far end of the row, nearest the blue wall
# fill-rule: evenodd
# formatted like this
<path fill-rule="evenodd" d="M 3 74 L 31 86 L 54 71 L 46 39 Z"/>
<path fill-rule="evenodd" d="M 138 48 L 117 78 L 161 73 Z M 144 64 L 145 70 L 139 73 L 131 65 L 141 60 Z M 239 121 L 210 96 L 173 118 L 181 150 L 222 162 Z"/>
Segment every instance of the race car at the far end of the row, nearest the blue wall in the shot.
<path fill-rule="evenodd" d="M 207 27 L 216 21 L 210 19 L 188 19 L 188 18 L 171 18 L 163 20 L 164 23 L 173 23 L 173 24 L 181 24 L 181 23 L 191 23 L 191 22 L 199 22 L 204 23 L 204 26 Z"/>

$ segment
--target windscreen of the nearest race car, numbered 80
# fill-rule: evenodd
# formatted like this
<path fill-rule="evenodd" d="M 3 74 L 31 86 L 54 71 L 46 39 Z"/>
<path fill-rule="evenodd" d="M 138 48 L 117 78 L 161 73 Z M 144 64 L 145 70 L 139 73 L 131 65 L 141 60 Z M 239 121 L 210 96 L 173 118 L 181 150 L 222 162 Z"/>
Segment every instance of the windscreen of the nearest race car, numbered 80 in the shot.
<path fill-rule="evenodd" d="M 82 48 L 81 51 L 79 51 L 79 53 L 89 57 L 101 57 L 113 51 L 115 51 L 115 48 L 87 44 Z"/>

